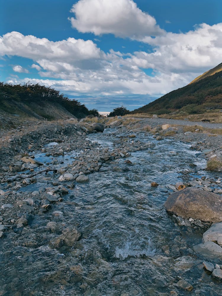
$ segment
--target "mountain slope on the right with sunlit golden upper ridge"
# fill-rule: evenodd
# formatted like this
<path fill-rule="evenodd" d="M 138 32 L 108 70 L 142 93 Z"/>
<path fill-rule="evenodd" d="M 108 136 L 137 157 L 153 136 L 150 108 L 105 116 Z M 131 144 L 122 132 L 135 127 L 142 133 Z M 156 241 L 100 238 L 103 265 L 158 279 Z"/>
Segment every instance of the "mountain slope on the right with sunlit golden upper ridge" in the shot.
<path fill-rule="evenodd" d="M 222 63 L 132 113 L 204 113 L 222 109 Z"/>

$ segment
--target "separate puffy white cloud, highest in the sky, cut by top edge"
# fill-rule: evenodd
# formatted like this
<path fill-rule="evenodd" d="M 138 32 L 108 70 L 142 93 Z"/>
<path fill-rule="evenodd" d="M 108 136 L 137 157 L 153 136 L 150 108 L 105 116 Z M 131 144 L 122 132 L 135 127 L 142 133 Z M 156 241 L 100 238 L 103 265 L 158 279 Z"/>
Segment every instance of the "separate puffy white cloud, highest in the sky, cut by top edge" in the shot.
<path fill-rule="evenodd" d="M 79 32 L 95 35 L 112 33 L 141 40 L 165 33 L 151 15 L 142 12 L 132 0 L 80 0 L 73 5 L 70 21 Z"/>

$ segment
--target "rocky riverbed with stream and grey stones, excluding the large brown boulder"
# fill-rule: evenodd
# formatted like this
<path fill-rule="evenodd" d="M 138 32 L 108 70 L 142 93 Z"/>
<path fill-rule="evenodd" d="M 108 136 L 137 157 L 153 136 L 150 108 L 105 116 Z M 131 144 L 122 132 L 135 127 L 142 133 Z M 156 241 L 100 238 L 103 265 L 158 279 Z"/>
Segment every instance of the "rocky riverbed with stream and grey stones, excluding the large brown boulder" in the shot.
<path fill-rule="evenodd" d="M 178 183 L 221 197 L 221 136 L 152 120 L 2 133 L 0 295 L 222 295 L 213 221 L 164 207 Z"/>

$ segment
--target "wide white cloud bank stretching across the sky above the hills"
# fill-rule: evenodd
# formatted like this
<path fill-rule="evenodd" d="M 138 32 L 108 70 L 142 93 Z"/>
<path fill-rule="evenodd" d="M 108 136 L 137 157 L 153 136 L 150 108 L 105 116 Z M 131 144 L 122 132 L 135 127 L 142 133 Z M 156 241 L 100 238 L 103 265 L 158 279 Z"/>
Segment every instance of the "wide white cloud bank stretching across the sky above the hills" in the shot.
<path fill-rule="evenodd" d="M 31 81 L 73 95 L 158 97 L 221 63 L 221 40 L 222 24 L 202 24 L 187 33 L 144 38 L 154 47 L 153 52 L 122 54 L 112 49 L 104 53 L 90 40 L 68 38 L 53 42 L 11 32 L 0 37 L 0 54 L 32 59 L 31 68 L 41 76 L 12 77 L 12 83 Z M 15 67 L 21 71 L 21 66 Z M 148 68 L 155 70 L 154 77 L 145 74 Z"/>

